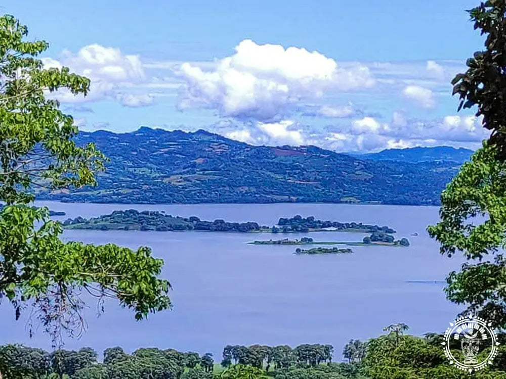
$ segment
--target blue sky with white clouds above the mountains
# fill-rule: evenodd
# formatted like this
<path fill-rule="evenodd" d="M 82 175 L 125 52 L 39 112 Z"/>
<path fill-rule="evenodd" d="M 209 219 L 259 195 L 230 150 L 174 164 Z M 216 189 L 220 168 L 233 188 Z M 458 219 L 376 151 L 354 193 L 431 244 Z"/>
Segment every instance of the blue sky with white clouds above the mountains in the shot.
<path fill-rule="evenodd" d="M 468 0 L 4 1 L 48 67 L 92 79 L 53 94 L 81 129 L 203 128 L 336 151 L 486 138 L 449 81 L 482 48 Z"/>

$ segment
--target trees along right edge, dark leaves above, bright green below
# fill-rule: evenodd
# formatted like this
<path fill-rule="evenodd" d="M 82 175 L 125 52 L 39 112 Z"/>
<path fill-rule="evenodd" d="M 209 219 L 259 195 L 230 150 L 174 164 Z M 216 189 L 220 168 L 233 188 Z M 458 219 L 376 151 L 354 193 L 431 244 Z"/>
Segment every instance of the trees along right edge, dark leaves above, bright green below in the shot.
<path fill-rule="evenodd" d="M 462 252 L 461 271 L 447 277 L 447 298 L 506 328 L 506 2 L 490 0 L 468 11 L 486 35 L 485 51 L 468 59 L 469 69 L 452 81 L 461 108 L 477 106 L 492 131 L 441 195 L 441 221 L 428 228 L 441 254 Z"/>

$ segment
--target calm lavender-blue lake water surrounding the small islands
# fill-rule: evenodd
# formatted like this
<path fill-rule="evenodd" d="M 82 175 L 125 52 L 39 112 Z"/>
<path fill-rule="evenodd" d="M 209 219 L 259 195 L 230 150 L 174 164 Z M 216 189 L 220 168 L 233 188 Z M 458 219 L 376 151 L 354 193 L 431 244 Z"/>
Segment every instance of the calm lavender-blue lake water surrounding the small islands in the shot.
<path fill-rule="evenodd" d="M 300 214 L 342 222 L 388 225 L 396 238 L 411 246 L 353 247 L 353 254 L 294 255 L 294 246 L 254 246 L 254 239 L 272 234 L 217 232 L 152 232 L 67 230 L 64 239 L 86 243 L 112 242 L 135 249 L 150 246 L 165 261 L 163 277 L 173 285 L 174 309 L 136 322 L 133 312 L 106 303 L 97 318 L 96 306 L 86 311 L 88 329 L 65 348 L 90 346 L 99 354 L 112 346 L 132 352 L 139 347 L 212 352 L 221 360 L 225 345 L 321 343 L 334 346 L 342 359 L 350 339 L 382 334 L 395 322 L 421 335 L 443 331 L 460 308 L 443 294 L 447 273 L 459 258 L 446 258 L 426 232 L 438 220 L 436 207 L 338 204 L 117 205 L 39 202 L 66 216 L 91 217 L 116 209 L 159 210 L 205 220 L 257 221 L 272 225 L 279 217 Z M 411 233 L 417 232 L 418 236 Z M 317 232 L 289 234 L 316 241 L 360 241 L 364 234 Z M 282 234 L 279 234 L 282 238 Z M 409 282 L 428 280 L 429 282 Z M 38 331 L 30 339 L 25 320 L 14 321 L 12 307 L 0 308 L 0 343 L 23 343 L 50 350 L 49 337 Z"/>

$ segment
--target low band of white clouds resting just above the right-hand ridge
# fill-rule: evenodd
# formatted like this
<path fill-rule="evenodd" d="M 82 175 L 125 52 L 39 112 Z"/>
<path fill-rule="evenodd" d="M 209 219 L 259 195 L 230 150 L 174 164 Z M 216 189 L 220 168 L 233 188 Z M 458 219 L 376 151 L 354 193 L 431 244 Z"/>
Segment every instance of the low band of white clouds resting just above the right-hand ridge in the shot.
<path fill-rule="evenodd" d="M 396 111 L 391 121 L 362 117 L 341 125 L 316 127 L 292 120 L 242 122 L 223 120 L 212 128 L 228 138 L 250 145 L 314 145 L 338 152 L 371 152 L 413 146 L 465 146 L 479 148 L 488 137 L 475 116 L 446 116 L 435 120 L 409 119 Z"/>

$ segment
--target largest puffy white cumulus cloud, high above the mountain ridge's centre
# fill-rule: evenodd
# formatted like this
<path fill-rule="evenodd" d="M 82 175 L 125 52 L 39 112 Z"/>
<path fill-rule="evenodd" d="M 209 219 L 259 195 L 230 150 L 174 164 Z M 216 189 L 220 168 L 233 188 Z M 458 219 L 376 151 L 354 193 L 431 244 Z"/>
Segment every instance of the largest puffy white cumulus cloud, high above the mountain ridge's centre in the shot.
<path fill-rule="evenodd" d="M 343 68 L 316 51 L 259 45 L 249 39 L 212 70 L 183 63 L 178 74 L 185 81 L 181 108 L 212 108 L 222 116 L 260 121 L 289 113 L 302 100 L 321 98 L 327 91 L 374 84 L 364 65 Z"/>

